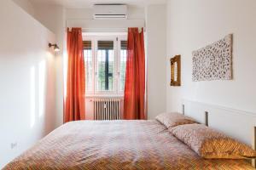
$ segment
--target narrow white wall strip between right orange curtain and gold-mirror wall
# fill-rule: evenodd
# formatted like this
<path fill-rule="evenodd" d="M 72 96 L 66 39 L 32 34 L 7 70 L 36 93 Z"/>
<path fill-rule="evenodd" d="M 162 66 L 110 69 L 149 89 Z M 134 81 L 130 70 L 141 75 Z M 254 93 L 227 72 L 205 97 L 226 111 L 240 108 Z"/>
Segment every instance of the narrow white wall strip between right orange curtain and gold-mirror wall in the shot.
<path fill-rule="evenodd" d="M 146 8 L 148 119 L 166 111 L 166 5 Z"/>

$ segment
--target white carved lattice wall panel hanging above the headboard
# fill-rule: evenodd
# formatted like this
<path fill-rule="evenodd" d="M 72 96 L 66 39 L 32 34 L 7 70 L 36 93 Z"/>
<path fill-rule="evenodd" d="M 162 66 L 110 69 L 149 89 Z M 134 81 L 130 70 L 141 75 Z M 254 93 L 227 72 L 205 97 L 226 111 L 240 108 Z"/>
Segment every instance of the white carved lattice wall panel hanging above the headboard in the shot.
<path fill-rule="evenodd" d="M 232 79 L 231 34 L 192 54 L 194 82 Z"/>

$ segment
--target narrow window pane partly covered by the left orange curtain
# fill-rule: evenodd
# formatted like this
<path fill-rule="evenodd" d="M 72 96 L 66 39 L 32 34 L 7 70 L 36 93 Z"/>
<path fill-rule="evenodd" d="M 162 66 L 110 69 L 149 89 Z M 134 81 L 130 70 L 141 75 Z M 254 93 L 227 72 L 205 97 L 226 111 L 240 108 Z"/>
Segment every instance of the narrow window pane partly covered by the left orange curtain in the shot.
<path fill-rule="evenodd" d="M 93 91 L 93 62 L 91 42 L 84 41 L 84 66 L 85 66 L 85 91 L 91 93 Z"/>

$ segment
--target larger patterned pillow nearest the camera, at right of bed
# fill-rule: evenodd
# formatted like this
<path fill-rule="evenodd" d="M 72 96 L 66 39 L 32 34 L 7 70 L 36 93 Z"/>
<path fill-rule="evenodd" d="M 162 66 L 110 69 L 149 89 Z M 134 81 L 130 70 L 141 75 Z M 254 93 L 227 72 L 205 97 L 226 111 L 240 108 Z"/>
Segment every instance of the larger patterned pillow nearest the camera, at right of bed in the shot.
<path fill-rule="evenodd" d="M 208 159 L 245 159 L 256 157 L 255 150 L 224 133 L 218 133 L 202 124 L 187 124 L 169 129 L 199 156 Z"/>

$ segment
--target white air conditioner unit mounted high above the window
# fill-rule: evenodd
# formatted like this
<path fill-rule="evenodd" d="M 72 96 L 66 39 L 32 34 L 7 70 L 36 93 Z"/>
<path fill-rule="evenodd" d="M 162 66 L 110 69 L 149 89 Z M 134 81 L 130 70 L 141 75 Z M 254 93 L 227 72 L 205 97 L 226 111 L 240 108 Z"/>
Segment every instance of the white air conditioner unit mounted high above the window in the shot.
<path fill-rule="evenodd" d="M 127 5 L 96 4 L 93 12 L 94 19 L 126 19 Z"/>

